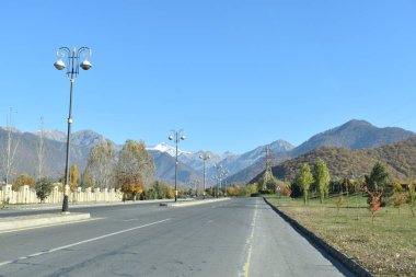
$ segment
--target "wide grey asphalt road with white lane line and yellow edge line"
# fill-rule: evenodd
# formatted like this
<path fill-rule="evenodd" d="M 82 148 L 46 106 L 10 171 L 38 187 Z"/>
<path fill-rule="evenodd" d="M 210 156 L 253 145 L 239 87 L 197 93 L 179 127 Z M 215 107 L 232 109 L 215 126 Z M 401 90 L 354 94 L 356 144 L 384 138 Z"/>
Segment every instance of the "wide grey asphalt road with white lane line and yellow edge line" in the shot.
<path fill-rule="evenodd" d="M 354 276 L 262 198 L 82 211 L 94 220 L 0 234 L 0 276 Z"/>

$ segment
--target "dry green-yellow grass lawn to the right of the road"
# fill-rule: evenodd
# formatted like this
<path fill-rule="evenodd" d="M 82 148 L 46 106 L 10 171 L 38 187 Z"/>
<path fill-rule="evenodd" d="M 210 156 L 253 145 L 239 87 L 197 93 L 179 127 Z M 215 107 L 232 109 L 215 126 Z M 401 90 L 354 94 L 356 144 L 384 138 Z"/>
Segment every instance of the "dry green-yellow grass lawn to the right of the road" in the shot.
<path fill-rule="evenodd" d="M 393 207 L 381 208 L 372 222 L 362 196 L 344 197 L 339 210 L 336 197 L 322 205 L 313 199 L 307 206 L 302 199 L 267 199 L 375 276 L 416 276 L 416 217 L 407 205 L 400 212 Z"/>

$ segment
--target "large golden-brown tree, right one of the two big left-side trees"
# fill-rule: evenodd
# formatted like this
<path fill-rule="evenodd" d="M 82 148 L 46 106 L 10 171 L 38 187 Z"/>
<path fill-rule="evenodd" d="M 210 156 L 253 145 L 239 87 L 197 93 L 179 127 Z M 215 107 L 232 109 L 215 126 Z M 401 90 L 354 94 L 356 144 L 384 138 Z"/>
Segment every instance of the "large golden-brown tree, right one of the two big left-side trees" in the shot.
<path fill-rule="evenodd" d="M 118 186 L 135 185 L 147 187 L 154 174 L 153 158 L 146 150 L 145 142 L 127 140 L 116 168 Z"/>

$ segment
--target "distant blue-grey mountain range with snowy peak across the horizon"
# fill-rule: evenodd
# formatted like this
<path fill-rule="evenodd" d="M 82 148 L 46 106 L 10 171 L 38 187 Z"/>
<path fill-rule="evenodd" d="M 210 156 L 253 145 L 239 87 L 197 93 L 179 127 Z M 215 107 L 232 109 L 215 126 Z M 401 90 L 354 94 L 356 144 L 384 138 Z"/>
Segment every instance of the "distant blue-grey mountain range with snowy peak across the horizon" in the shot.
<path fill-rule="evenodd" d="M 42 134 L 47 149 L 45 173 L 57 177 L 63 172 L 65 168 L 66 134 L 57 130 L 44 130 Z M 5 130 L 0 128 L 0 141 L 4 141 L 5 136 Z M 13 136 L 20 140 L 15 155 L 15 174 L 27 173 L 35 175 L 37 164 L 36 145 L 39 139 L 39 132 L 13 131 Z M 246 183 L 255 178 L 265 169 L 266 148 L 271 150 L 273 164 L 278 165 L 322 147 L 351 150 L 369 149 L 391 145 L 414 136 L 414 132 L 402 128 L 378 128 L 368 122 L 354 119 L 339 127 L 320 132 L 298 147 L 293 147 L 285 140 L 276 140 L 242 154 L 231 152 L 218 154 L 208 151 L 210 159 L 206 162 L 207 185 L 215 183 L 213 176 L 217 174 L 215 165 L 222 165 L 228 169 L 228 183 Z M 86 165 L 91 148 L 104 139 L 103 136 L 92 130 L 71 134 L 71 163 L 77 163 L 80 170 L 82 170 Z M 119 151 L 123 147 L 114 142 L 113 145 L 116 151 Z M 0 154 L 1 151 L 0 146 Z M 157 168 L 155 178 L 173 182 L 175 148 L 162 142 L 158 146 L 149 147 L 148 151 L 154 159 Z M 178 182 L 181 184 L 192 185 L 203 182 L 204 163 L 199 159 L 199 155 L 204 152 L 189 152 L 178 149 Z M 274 168 L 274 170 L 280 172 L 277 169 Z"/>

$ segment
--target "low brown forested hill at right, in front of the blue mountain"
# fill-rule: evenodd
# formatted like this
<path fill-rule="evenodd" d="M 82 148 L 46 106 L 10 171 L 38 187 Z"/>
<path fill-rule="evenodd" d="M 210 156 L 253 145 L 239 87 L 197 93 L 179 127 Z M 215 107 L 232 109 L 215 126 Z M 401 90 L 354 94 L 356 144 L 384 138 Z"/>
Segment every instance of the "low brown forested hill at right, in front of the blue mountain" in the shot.
<path fill-rule="evenodd" d="M 416 137 L 362 150 L 323 147 L 274 166 L 273 173 L 280 180 L 292 181 L 302 163 L 312 168 L 319 158 L 326 162 L 333 180 L 363 177 L 371 172 L 377 161 L 381 161 L 386 165 L 392 180 L 407 182 L 407 175 L 416 173 Z M 262 175 L 263 173 L 252 182 L 258 181 Z"/>

